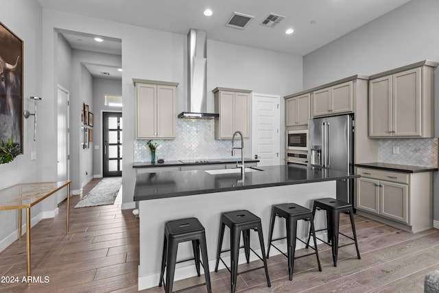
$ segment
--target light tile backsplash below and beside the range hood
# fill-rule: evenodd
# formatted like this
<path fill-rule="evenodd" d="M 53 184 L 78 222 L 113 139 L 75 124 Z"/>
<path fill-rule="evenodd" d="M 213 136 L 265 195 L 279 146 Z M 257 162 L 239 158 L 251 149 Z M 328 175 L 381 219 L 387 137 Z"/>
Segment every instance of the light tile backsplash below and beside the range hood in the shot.
<path fill-rule="evenodd" d="M 134 140 L 134 162 L 151 161 L 147 141 Z M 178 119 L 175 139 L 154 139 L 154 142 L 159 145 L 156 157 L 164 156 L 165 161 L 232 157 L 231 140 L 215 140 L 214 119 Z M 244 139 L 244 145 L 248 143 L 250 140 Z M 237 155 L 241 156 L 239 152 Z"/>

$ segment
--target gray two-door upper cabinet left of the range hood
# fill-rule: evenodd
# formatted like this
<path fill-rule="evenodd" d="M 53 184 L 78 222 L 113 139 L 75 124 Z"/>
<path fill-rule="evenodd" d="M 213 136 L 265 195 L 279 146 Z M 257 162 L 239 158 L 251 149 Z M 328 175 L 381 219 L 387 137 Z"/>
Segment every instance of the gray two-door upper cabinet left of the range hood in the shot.
<path fill-rule="evenodd" d="M 133 82 L 136 86 L 136 138 L 174 139 L 178 83 L 137 79 Z"/>

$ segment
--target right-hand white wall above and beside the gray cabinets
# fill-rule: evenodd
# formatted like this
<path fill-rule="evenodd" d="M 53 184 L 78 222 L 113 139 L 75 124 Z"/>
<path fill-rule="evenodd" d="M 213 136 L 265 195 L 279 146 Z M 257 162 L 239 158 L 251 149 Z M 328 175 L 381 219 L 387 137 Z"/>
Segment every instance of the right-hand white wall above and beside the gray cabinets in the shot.
<path fill-rule="evenodd" d="M 304 57 L 304 89 L 356 73 L 372 75 L 420 60 L 439 61 L 439 1 L 412 0 Z M 439 71 L 436 69 L 436 101 Z M 439 117 L 436 102 L 436 117 Z M 436 119 L 436 137 L 439 133 Z M 434 219 L 439 220 L 436 176 Z M 437 226 L 439 222 L 435 223 Z"/>

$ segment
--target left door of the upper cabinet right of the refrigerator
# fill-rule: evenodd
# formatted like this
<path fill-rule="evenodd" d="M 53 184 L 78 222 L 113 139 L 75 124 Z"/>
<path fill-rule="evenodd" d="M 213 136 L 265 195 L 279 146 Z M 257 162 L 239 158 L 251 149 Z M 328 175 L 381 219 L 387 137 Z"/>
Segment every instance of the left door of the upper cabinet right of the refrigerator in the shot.
<path fill-rule="evenodd" d="M 392 135 L 391 76 L 369 81 L 369 137 Z"/>

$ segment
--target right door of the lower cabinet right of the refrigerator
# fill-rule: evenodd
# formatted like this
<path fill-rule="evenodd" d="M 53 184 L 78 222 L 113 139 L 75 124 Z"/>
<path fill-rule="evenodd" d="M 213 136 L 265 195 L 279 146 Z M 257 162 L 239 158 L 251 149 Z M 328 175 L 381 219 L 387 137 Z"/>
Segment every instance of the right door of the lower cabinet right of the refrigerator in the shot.
<path fill-rule="evenodd" d="M 381 181 L 380 185 L 379 213 L 387 218 L 408 224 L 408 185 L 388 181 Z"/>

